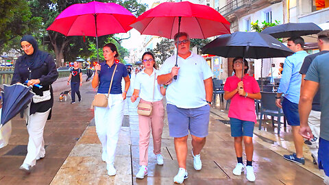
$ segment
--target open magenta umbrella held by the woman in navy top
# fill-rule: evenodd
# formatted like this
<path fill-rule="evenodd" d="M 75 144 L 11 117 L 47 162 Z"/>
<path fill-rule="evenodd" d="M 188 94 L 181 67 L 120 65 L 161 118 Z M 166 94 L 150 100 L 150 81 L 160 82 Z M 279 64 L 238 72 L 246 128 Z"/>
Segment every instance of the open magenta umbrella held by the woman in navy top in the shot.
<path fill-rule="evenodd" d="M 60 32 L 65 36 L 96 37 L 98 62 L 97 37 L 128 32 L 132 29 L 130 24 L 135 19 L 136 17 L 121 5 L 92 1 L 70 5 L 55 18 L 47 30 Z"/>

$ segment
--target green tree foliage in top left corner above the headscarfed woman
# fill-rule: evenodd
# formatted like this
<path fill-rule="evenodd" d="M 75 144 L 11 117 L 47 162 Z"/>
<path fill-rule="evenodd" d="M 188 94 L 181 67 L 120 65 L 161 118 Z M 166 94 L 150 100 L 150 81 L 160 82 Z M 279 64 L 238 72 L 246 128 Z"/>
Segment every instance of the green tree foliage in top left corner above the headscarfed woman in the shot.
<path fill-rule="evenodd" d="M 0 1 L 0 50 L 11 45 L 20 47 L 19 42 L 11 41 L 16 42 L 15 38 L 20 39 L 24 34 L 31 34 L 38 30 L 41 22 L 42 19 L 39 16 L 32 16 L 27 1 Z"/>

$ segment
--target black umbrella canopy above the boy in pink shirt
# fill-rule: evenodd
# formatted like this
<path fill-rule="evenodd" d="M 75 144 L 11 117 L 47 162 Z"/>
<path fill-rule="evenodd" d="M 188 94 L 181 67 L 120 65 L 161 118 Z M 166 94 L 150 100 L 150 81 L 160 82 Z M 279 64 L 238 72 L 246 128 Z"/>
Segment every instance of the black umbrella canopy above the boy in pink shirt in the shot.
<path fill-rule="evenodd" d="M 293 54 L 293 51 L 269 34 L 234 32 L 212 40 L 202 48 L 202 53 L 225 58 L 242 56 L 259 59 L 287 57 Z"/>

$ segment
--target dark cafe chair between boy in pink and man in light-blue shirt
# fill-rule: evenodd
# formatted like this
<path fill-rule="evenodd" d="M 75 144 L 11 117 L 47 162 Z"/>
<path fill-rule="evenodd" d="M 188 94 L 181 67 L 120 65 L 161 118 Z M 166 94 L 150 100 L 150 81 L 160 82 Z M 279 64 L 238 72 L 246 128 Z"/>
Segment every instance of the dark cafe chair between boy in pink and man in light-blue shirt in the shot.
<path fill-rule="evenodd" d="M 262 119 L 266 116 L 271 116 L 272 125 L 274 126 L 274 116 L 278 117 L 278 134 L 280 134 L 280 119 L 284 117 L 283 110 L 276 106 L 276 93 L 260 92 L 262 98 L 260 99 L 260 120 L 258 130 L 262 127 Z M 284 127 L 287 127 L 286 119 L 284 118 Z"/>

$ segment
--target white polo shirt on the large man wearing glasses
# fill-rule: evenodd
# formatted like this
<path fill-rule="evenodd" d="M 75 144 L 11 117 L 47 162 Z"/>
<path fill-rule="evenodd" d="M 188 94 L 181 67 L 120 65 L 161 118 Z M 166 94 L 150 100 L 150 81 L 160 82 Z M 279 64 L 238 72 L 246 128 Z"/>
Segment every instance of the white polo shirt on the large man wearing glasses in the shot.
<path fill-rule="evenodd" d="M 167 58 L 158 75 L 171 73 L 175 61 L 176 55 Z M 204 79 L 213 76 L 206 60 L 191 51 L 191 56 L 186 59 L 178 56 L 178 67 L 180 69 L 177 79 L 173 79 L 173 82 L 167 87 L 167 103 L 178 108 L 200 108 L 205 106 L 207 102 Z"/>

